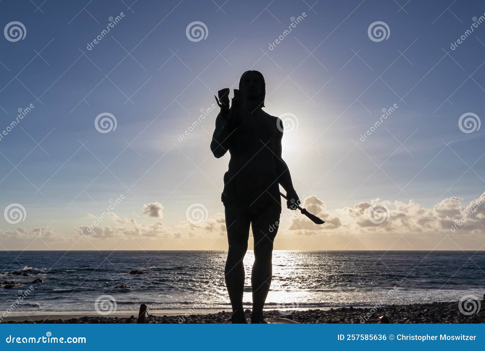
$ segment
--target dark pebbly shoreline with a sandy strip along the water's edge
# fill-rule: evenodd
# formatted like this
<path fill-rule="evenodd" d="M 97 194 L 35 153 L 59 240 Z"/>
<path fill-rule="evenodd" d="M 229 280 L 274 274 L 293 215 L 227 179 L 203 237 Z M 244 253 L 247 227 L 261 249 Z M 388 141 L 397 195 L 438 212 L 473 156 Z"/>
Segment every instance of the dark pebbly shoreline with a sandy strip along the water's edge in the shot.
<path fill-rule="evenodd" d="M 470 315 L 460 312 L 458 301 L 415 303 L 382 307 L 339 307 L 326 309 L 264 311 L 267 319 L 287 318 L 298 323 L 485 323 L 482 309 Z M 4 311 L 0 311 L 0 316 Z M 148 310 L 146 323 L 226 323 L 230 311 L 222 310 Z M 113 311 L 100 315 L 96 311 L 25 311 L 12 312 L 2 323 L 136 323 L 138 311 Z M 250 310 L 246 310 L 250 317 Z"/>

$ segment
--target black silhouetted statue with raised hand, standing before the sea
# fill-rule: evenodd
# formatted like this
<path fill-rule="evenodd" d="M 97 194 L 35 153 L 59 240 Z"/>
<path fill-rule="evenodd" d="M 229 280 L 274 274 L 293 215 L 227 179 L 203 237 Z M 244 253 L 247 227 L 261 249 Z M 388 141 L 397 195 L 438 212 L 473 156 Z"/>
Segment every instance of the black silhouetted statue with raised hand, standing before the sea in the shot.
<path fill-rule="evenodd" d="M 224 175 L 222 201 L 226 212 L 229 250 L 225 277 L 232 305 L 232 323 L 246 323 L 242 307 L 244 265 L 249 226 L 253 229 L 255 261 L 251 274 L 253 311 L 251 323 L 267 323 L 263 306 L 271 285 L 273 242 L 281 214 L 279 184 L 287 192 L 287 206 L 300 204 L 287 164 L 281 158 L 283 123 L 264 107 L 265 83 L 258 71 L 246 71 L 234 90 L 219 91 L 221 112 L 215 122 L 210 150 L 216 158 L 231 155 Z"/>

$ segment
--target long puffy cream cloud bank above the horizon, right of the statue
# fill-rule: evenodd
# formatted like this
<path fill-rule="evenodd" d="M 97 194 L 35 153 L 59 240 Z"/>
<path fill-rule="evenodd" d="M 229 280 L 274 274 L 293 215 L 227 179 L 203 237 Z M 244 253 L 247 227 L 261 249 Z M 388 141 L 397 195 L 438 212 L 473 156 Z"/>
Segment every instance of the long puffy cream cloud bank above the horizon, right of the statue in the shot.
<path fill-rule="evenodd" d="M 298 213 L 292 216 L 289 229 L 304 235 L 450 231 L 485 234 L 485 192 L 467 205 L 462 201 L 462 198 L 457 197 L 446 198 L 433 208 L 426 209 L 413 200 L 402 202 L 374 199 L 357 202 L 353 207 L 337 209 L 335 214 L 330 214 L 325 203 L 312 195 L 303 201 L 302 207 L 322 218 L 325 223 L 316 225 Z M 382 208 L 383 212 L 374 213 L 377 208 Z"/>

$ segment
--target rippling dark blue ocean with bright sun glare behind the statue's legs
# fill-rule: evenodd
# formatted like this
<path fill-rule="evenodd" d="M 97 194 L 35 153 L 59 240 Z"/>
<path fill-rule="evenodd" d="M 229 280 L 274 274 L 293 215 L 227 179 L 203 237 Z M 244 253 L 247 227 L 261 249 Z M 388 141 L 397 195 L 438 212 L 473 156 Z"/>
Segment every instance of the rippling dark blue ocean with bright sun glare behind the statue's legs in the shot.
<path fill-rule="evenodd" d="M 113 298 L 116 310 L 137 310 L 141 303 L 230 310 L 225 259 L 226 251 L 1 251 L 0 310 L 16 303 L 16 311 L 94 311 L 103 295 Z M 253 261 L 248 251 L 248 308 Z M 42 282 L 32 283 L 36 279 Z M 484 293 L 484 251 L 274 251 L 267 307 L 458 301 Z"/>

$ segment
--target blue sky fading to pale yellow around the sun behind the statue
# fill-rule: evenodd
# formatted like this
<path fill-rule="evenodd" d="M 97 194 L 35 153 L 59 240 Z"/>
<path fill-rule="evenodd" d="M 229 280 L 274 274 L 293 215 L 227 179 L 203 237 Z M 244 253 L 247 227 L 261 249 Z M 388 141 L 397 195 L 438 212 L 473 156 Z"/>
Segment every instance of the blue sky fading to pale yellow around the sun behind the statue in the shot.
<path fill-rule="evenodd" d="M 326 220 L 284 209 L 275 249 L 483 250 L 483 21 L 483 0 L 3 0 L 0 250 L 225 250 L 213 95 L 248 69 Z"/>

